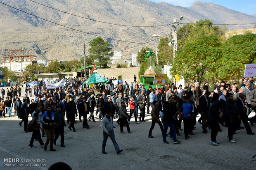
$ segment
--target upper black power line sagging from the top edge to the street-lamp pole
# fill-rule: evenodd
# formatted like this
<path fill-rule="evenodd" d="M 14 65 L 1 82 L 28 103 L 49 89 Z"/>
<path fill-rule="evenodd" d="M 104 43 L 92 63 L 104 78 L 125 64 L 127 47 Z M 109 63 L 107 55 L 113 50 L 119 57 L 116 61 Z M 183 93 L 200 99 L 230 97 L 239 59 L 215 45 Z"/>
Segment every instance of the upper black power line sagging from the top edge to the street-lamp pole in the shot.
<path fill-rule="evenodd" d="M 36 2 L 36 1 L 33 1 L 33 0 L 29 0 L 31 2 L 35 2 L 39 5 L 43 5 L 39 2 Z M 60 11 L 60 12 L 63 12 L 65 14 L 69 14 L 69 15 L 73 15 L 73 16 L 77 16 L 79 18 L 84 18 L 84 19 L 88 19 L 88 20 L 91 20 L 91 21 L 95 21 L 95 22 L 100 22 L 100 23 L 106 23 L 106 24 L 111 24 L 111 25 L 119 25 L 119 26 L 126 26 L 126 27 L 161 27 L 161 26 L 167 26 L 167 25 L 172 25 L 173 23 L 169 23 L 169 24 L 165 24 L 165 25 L 149 25 L 149 26 L 138 26 L 138 25 L 123 25 L 123 24 L 116 24 L 116 23 L 108 23 L 108 22 L 104 22 L 104 21 L 99 21 L 99 20 L 95 20 L 95 19 L 91 19 L 91 18 L 86 18 L 86 17 L 83 17 L 83 16 L 78 16 L 76 14 L 71 14 L 71 13 L 68 13 L 68 12 L 65 12 L 65 11 L 61 11 L 59 9 L 55 9 L 53 7 L 49 7 L 47 5 L 43 5 L 44 7 L 47 7 L 47 8 L 51 8 L 51 9 L 54 9 L 56 11 Z"/>

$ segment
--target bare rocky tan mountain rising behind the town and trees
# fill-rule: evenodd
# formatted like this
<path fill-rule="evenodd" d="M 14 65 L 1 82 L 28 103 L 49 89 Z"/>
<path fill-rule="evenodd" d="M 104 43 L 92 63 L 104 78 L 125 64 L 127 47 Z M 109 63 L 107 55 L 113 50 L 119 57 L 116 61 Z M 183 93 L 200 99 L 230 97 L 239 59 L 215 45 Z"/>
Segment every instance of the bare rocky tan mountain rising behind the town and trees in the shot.
<path fill-rule="evenodd" d="M 65 14 L 43 5 L 59 9 L 77 16 Z M 0 58 L 8 50 L 23 49 L 25 55 L 37 55 L 47 60 L 71 60 L 88 54 L 89 42 L 96 36 L 104 37 L 114 51 L 122 51 L 124 57 L 137 53 L 142 46 L 154 47 L 152 34 L 165 36 L 171 32 L 173 18 L 184 16 L 181 23 L 209 19 L 213 23 L 256 23 L 255 15 L 238 11 L 209 2 L 196 1 L 192 7 L 180 7 L 165 2 L 155 3 L 147 0 L 0 0 L 18 11 L 0 3 Z M 166 25 L 161 27 L 128 27 L 91 21 L 90 18 L 122 25 Z M 51 23 L 51 22 L 53 23 Z M 57 23 L 59 25 L 56 25 Z M 65 27 L 63 27 L 63 26 Z M 225 25 L 228 29 L 252 28 L 254 25 Z M 69 27 L 69 28 L 66 28 Z M 72 30 L 70 28 L 76 29 Z M 77 31 L 80 30 L 81 32 Z M 89 33 L 86 34 L 85 32 Z M 115 40 L 114 40 L 115 39 Z M 117 41 L 121 40 L 121 41 Z M 133 47 L 135 46 L 135 47 Z M 80 48 L 78 50 L 78 48 Z"/>

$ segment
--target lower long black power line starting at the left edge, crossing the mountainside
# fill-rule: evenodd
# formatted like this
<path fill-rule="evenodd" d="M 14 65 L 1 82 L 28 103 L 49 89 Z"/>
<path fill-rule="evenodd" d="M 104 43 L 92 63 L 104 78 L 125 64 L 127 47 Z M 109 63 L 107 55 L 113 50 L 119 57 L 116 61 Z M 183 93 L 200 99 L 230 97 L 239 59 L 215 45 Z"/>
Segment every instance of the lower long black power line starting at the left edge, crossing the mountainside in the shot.
<path fill-rule="evenodd" d="M 75 31 L 78 31 L 78 32 L 83 32 L 83 33 L 85 33 L 85 34 L 93 35 L 93 36 L 96 36 L 96 37 L 102 37 L 102 36 L 98 36 L 98 35 L 95 35 L 95 34 L 92 34 L 92 33 L 89 33 L 89 32 L 84 32 L 84 31 L 81 31 L 81 30 L 77 30 L 77 29 L 75 29 L 75 28 L 67 27 L 67 26 L 65 26 L 65 25 L 61 25 L 61 24 L 58 24 L 58 23 L 49 21 L 49 20 L 47 20 L 47 19 L 41 18 L 41 17 L 36 16 L 36 15 L 33 15 L 33 14 L 29 14 L 28 12 L 22 11 L 21 9 L 17 9 L 17 8 L 12 7 L 12 6 L 10 6 L 10 5 L 7 5 L 7 4 L 5 4 L 5 3 L 3 3 L 3 2 L 0 2 L 0 3 L 3 4 L 3 5 L 6 5 L 6 6 L 8 6 L 8 7 L 11 7 L 11 8 L 13 8 L 13 9 L 16 9 L 16 10 L 18 10 L 18 11 L 24 12 L 24 13 L 26 13 L 26 14 L 28 14 L 28 15 L 31 15 L 31 16 L 34 16 L 34 17 L 36 17 L 36 18 L 42 19 L 42 20 L 44 20 L 44 21 L 48 21 L 48 22 L 50 22 L 50 23 L 53 23 L 53 24 L 56 24 L 56 25 L 59 25 L 59 26 L 65 27 L 65 28 L 69 28 L 69 29 L 71 29 L 71 30 L 75 30 Z M 126 42 L 126 43 L 133 43 L 133 44 L 145 44 L 145 43 L 137 43 L 137 42 L 131 42 L 131 41 L 123 41 L 123 40 L 120 40 L 120 39 L 113 39 L 113 38 L 109 38 L 109 37 L 102 37 L 102 38 L 111 39 L 111 40 L 114 40 L 114 41 Z M 149 45 L 152 45 L 152 44 L 149 44 Z"/>

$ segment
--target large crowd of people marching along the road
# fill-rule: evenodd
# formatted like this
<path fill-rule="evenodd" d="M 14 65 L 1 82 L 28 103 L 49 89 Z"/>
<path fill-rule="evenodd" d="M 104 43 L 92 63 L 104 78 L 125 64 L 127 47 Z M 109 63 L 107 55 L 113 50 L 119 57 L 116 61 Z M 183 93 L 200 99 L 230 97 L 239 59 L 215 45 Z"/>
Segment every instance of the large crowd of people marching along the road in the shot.
<path fill-rule="evenodd" d="M 111 138 L 117 154 L 123 151 L 119 149 L 114 138 L 114 119 L 117 124 L 120 124 L 120 133 L 125 133 L 124 126 L 128 133 L 132 133 L 129 126 L 130 120 L 134 117 L 136 124 L 145 122 L 146 112 L 152 116 L 148 137 L 154 138 L 152 131 L 157 123 L 160 126 L 164 144 L 168 144 L 166 140 L 168 135 L 174 144 L 180 143 L 177 139 L 177 136 L 181 136 L 180 131 L 184 131 L 185 140 L 189 139 L 190 135 L 194 135 L 193 130 L 196 128 L 198 114 L 201 116 L 198 122 L 202 124 L 202 133 L 208 133 L 207 128 L 211 129 L 212 145 L 219 144 L 216 136 L 219 131 L 222 131 L 220 125 L 228 127 L 227 137 L 231 143 L 235 143 L 233 135 L 236 130 L 245 127 L 247 134 L 254 134 L 248 123 L 249 121 L 253 125 L 256 122 L 255 117 L 248 118 L 251 110 L 256 112 L 256 90 L 253 78 L 244 78 L 239 89 L 237 83 L 230 85 L 225 81 L 216 82 L 212 91 L 209 90 L 208 82 L 201 87 L 198 82 L 194 85 L 187 83 L 184 88 L 182 85 L 175 87 L 174 83 L 167 83 L 160 87 L 149 86 L 146 90 L 145 85 L 133 84 L 133 82 L 128 84 L 126 81 L 114 85 L 115 79 L 108 79 L 111 80 L 108 85 L 99 83 L 94 87 L 89 87 L 83 85 L 83 78 L 72 78 L 66 80 L 66 86 L 53 90 L 47 89 L 42 81 L 38 81 L 33 89 L 25 88 L 22 99 L 20 99 L 21 87 L 10 87 L 7 92 L 2 88 L 0 117 L 5 117 L 5 113 L 11 117 L 12 108 L 14 108 L 14 115 L 17 114 L 17 117 L 21 119 L 19 126 L 24 123 L 24 131 L 32 131 L 29 148 L 34 148 L 33 142 L 37 140 L 45 151 L 49 142 L 50 151 L 56 151 L 53 145 L 56 145 L 59 136 L 61 147 L 65 147 L 65 116 L 69 130 L 76 131 L 76 117 L 79 117 L 80 122 L 83 117 L 83 128 L 89 129 L 87 120 L 92 119 L 96 122 L 97 119 L 94 117 L 95 109 L 95 114 L 99 116 L 98 119 L 103 125 L 103 154 L 107 154 L 105 146 L 108 137 Z M 100 92 L 95 94 L 94 89 L 100 89 Z M 29 98 L 32 97 L 32 91 L 35 95 L 34 99 Z M 130 114 L 128 114 L 128 108 Z M 30 123 L 28 123 L 29 116 L 32 117 Z M 241 126 L 241 121 L 244 127 Z M 170 127 L 169 131 L 168 127 Z M 41 138 L 40 130 L 42 137 L 46 136 L 45 142 Z"/>

